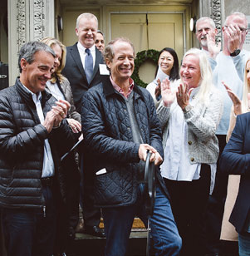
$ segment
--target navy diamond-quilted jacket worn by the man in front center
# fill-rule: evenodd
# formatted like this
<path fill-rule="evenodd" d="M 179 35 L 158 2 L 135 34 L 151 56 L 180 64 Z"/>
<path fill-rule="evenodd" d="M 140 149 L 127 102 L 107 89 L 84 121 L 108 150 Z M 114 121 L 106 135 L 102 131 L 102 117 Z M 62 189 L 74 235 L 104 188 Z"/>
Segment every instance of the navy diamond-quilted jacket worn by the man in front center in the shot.
<path fill-rule="evenodd" d="M 152 145 L 163 156 L 161 130 L 150 93 L 135 86 L 134 106 L 144 143 Z M 84 171 L 93 175 L 96 205 L 135 203 L 138 189 L 135 164 L 140 161 L 140 144 L 133 142 L 125 100 L 115 91 L 109 77 L 83 96 L 81 121 L 85 138 Z M 103 168 L 107 173 L 96 175 Z M 159 170 L 157 176 L 167 194 Z"/>

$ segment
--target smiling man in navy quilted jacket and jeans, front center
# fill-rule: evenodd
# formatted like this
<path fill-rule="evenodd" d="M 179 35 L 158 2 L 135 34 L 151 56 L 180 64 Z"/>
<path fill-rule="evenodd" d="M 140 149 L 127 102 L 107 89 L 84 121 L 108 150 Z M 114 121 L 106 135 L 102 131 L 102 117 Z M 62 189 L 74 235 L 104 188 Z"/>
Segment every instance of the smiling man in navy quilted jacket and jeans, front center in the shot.
<path fill-rule="evenodd" d="M 110 77 L 86 92 L 82 100 L 84 170 L 92 174 L 96 205 L 102 207 L 105 256 L 124 256 L 135 214 L 147 223 L 140 177 L 147 150 L 154 165 L 162 162 L 161 130 L 150 93 L 134 84 L 135 49 L 125 38 L 105 48 Z M 181 239 L 168 192 L 156 166 L 156 197 L 150 218 L 155 255 L 179 255 Z"/>

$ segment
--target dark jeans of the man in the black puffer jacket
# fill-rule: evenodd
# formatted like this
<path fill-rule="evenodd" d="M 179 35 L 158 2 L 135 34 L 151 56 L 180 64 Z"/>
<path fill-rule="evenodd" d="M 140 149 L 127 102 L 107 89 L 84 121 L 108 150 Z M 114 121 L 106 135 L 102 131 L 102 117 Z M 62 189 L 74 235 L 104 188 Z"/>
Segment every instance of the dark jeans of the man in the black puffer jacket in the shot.
<path fill-rule="evenodd" d="M 8 256 L 51 256 L 56 207 L 50 187 L 43 187 L 46 216 L 37 209 L 2 209 L 2 229 Z"/>

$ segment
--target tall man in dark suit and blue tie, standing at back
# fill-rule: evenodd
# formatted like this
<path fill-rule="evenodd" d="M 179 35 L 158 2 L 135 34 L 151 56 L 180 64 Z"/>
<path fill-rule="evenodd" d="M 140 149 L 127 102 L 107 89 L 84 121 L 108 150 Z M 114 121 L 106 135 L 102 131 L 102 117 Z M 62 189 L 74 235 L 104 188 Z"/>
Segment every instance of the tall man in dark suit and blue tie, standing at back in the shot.
<path fill-rule="evenodd" d="M 100 83 L 103 57 L 95 46 L 98 20 L 92 13 L 82 13 L 76 19 L 78 42 L 66 47 L 66 66 L 62 73 L 71 83 L 76 111 L 81 113 L 81 99 L 85 92 Z M 103 66 L 104 65 L 104 66 Z M 100 209 L 93 207 L 93 185 L 91 178 L 83 172 L 83 218 L 87 234 L 104 237 L 104 230 L 99 228 Z M 82 187 L 82 186 L 81 186 Z"/>

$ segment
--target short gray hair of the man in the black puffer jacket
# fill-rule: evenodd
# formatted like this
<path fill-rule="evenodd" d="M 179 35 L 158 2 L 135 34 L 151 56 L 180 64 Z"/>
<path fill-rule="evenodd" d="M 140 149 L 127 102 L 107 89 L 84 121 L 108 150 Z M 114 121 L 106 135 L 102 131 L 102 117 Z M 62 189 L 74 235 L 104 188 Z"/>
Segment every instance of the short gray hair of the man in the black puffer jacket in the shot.
<path fill-rule="evenodd" d="M 27 63 L 32 64 L 32 62 L 34 62 L 34 55 L 37 52 L 47 52 L 53 57 L 56 57 L 55 52 L 51 49 L 51 47 L 47 46 L 47 44 L 38 41 L 27 42 L 22 46 L 19 52 L 18 66 L 20 73 L 22 73 L 21 60 L 25 59 Z"/>

